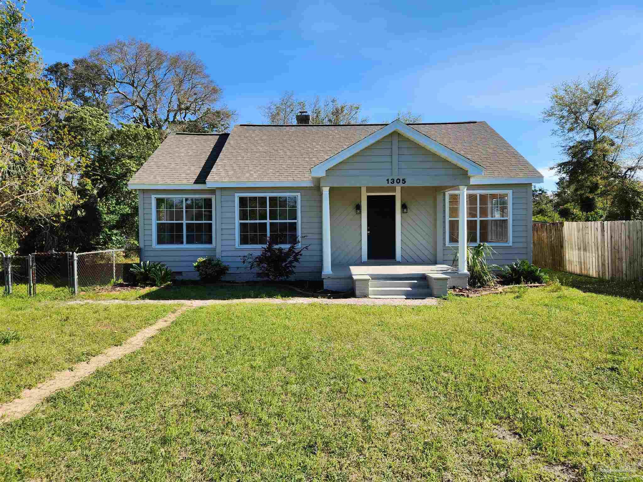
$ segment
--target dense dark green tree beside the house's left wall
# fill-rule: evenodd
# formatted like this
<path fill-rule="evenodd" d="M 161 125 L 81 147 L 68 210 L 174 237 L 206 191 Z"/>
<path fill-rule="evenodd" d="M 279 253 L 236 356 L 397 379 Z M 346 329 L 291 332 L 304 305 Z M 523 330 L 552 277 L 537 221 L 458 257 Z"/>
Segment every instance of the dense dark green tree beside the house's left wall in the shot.
<path fill-rule="evenodd" d="M 72 103 L 65 105 L 57 130 L 69 132 L 73 147 L 87 159 L 77 176 L 78 201 L 59 224 L 32 230 L 23 249 L 87 251 L 138 244 L 138 193 L 127 188 L 127 181 L 156 150 L 162 133 L 132 123 L 117 127 L 101 109 Z"/>

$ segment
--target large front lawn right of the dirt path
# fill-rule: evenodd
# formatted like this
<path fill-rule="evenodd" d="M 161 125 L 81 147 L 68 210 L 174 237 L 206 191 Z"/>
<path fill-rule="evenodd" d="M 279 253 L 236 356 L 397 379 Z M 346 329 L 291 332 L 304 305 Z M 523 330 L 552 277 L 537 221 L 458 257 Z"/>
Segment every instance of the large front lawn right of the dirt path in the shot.
<path fill-rule="evenodd" d="M 559 285 L 197 308 L 0 425 L 0 474 L 606 480 L 643 458 L 642 308 Z"/>

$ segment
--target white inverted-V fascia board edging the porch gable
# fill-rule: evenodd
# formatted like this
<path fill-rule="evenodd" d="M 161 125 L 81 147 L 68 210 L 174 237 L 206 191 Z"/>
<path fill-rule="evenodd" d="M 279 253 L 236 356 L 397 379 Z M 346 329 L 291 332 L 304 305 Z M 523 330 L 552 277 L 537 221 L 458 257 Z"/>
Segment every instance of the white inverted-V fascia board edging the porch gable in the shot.
<path fill-rule="evenodd" d="M 402 134 L 405 138 L 411 139 L 415 143 L 430 150 L 434 154 L 443 157 L 447 161 L 451 161 L 453 164 L 466 170 L 469 175 L 484 175 L 484 168 L 482 168 L 482 166 L 470 161 L 466 157 L 462 156 L 462 154 L 455 152 L 455 150 L 449 149 L 448 147 L 431 139 L 429 136 L 425 136 L 422 132 L 413 129 L 402 121 L 396 119 L 392 121 L 392 123 L 382 127 L 382 129 L 376 130 L 376 132 L 369 134 L 365 138 L 361 139 L 361 141 L 354 143 L 352 146 L 345 148 L 343 151 L 338 152 L 334 156 L 329 157 L 325 161 L 314 166 L 311 169 L 312 177 L 322 177 L 326 175 L 327 169 L 338 165 L 341 161 L 345 161 L 350 156 L 357 154 L 359 151 L 367 148 L 379 141 L 379 139 L 385 138 L 388 134 L 395 131 Z"/>

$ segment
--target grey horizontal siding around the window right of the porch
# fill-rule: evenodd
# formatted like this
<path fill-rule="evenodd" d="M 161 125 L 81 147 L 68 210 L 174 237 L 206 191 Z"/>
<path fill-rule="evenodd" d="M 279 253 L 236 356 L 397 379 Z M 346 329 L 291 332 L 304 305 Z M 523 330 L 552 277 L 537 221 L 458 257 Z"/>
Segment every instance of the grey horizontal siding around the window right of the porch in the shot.
<path fill-rule="evenodd" d="M 532 184 L 489 184 L 484 186 L 468 186 L 467 192 L 493 191 L 494 189 L 512 191 L 512 238 L 511 246 L 493 246 L 496 252 L 489 263 L 497 265 L 511 264 L 516 260 L 532 260 Z M 457 188 L 455 188 L 457 190 Z M 442 233 L 440 233 L 440 248 L 442 249 L 442 262 L 450 265 L 457 253 L 457 246 L 446 245 L 446 226 L 444 226 L 444 206 L 446 196 L 440 195 L 438 216 L 442 217 Z"/>

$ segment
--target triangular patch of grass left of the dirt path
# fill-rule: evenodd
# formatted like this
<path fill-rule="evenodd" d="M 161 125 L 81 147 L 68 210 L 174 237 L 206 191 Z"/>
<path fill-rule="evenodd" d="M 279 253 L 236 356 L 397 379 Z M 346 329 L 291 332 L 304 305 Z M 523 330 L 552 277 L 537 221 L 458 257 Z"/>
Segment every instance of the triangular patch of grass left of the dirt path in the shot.
<path fill-rule="evenodd" d="M 0 297 L 0 403 L 67 370 L 168 314 L 173 305 L 64 305 Z"/>

